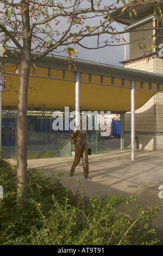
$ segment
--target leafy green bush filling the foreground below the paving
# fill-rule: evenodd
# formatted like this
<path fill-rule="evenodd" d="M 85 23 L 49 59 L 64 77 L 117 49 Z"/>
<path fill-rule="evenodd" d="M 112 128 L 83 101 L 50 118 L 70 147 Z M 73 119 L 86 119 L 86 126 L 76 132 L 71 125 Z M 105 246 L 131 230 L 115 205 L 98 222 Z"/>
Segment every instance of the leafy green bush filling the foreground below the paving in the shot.
<path fill-rule="evenodd" d="M 17 211 L 16 168 L 0 162 L 0 245 L 150 245 L 158 244 L 149 223 L 161 206 L 141 205 L 118 210 L 135 198 L 98 194 L 87 202 L 79 182 L 79 193 L 62 188 L 59 176 L 28 170 L 28 205 Z M 134 214 L 130 214 L 130 210 Z"/>

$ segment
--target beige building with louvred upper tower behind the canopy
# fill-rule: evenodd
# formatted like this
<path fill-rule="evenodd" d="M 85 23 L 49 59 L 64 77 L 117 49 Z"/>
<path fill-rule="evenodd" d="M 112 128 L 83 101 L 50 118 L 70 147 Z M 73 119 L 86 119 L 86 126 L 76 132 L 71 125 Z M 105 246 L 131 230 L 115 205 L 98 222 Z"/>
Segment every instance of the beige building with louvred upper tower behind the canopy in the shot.
<path fill-rule="evenodd" d="M 155 30 L 145 30 L 156 27 L 158 23 L 158 16 L 149 15 L 126 27 L 126 30 L 135 28 L 142 31 L 130 33 L 129 59 L 122 62 L 125 68 L 163 75 L 163 59 L 159 54 L 162 34 Z M 124 117 L 124 147 L 127 148 L 130 147 L 130 120 L 130 112 L 127 112 Z M 163 150 L 162 92 L 156 93 L 135 111 L 135 135 L 136 148 Z"/>

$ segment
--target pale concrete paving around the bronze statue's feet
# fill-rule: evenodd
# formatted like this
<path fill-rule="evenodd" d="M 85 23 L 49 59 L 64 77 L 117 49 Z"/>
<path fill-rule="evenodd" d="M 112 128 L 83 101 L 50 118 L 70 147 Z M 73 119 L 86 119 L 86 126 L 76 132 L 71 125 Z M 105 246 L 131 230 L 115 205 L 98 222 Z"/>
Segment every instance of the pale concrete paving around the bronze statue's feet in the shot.
<path fill-rule="evenodd" d="M 89 156 L 89 176 L 83 178 L 83 164 L 80 161 L 74 175 L 70 169 L 74 157 L 28 160 L 28 168 L 43 168 L 45 175 L 49 172 L 62 173 L 61 183 L 71 191 L 78 191 L 77 179 L 87 197 L 95 193 L 114 194 L 122 197 L 137 197 L 136 202 L 145 207 L 163 205 L 159 198 L 159 186 L 163 185 L 163 151 L 136 150 L 135 160 L 130 159 L 130 150 L 117 150 L 110 153 Z M 15 164 L 15 160 L 10 160 Z M 162 189 L 163 190 L 163 189 Z M 163 195 L 163 192 L 162 192 Z M 154 227 L 163 237 L 163 209 L 153 219 Z"/>

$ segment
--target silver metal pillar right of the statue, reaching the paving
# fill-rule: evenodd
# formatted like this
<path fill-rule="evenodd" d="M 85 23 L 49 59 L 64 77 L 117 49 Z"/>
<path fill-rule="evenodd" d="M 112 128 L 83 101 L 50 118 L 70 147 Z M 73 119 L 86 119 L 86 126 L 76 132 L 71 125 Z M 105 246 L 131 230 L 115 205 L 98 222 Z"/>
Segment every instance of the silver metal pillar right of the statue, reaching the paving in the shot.
<path fill-rule="evenodd" d="M 135 160 L 135 81 L 131 82 L 131 160 Z"/>

